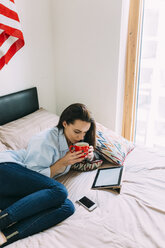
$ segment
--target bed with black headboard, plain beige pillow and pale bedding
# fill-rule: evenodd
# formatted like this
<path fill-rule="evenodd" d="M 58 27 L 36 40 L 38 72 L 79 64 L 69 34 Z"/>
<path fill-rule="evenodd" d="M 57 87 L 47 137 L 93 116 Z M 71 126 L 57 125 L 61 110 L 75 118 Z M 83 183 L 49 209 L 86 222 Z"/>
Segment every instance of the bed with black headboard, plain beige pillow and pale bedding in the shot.
<path fill-rule="evenodd" d="M 58 116 L 39 108 L 37 89 L 0 97 L 0 151 L 20 149 L 37 132 L 51 128 Z M 112 166 L 104 161 L 102 167 Z M 96 170 L 71 170 L 58 178 L 75 205 L 74 215 L 10 248 L 164 248 L 165 154 L 135 146 L 125 156 L 120 194 L 92 190 Z M 86 195 L 98 207 L 89 212 L 76 203 Z"/>

